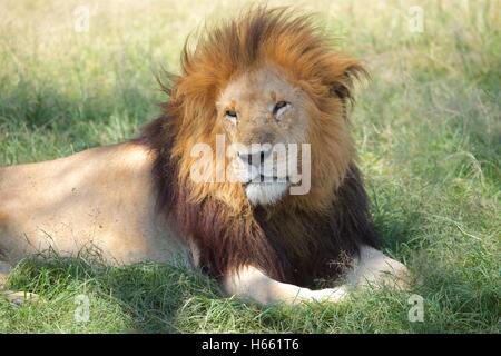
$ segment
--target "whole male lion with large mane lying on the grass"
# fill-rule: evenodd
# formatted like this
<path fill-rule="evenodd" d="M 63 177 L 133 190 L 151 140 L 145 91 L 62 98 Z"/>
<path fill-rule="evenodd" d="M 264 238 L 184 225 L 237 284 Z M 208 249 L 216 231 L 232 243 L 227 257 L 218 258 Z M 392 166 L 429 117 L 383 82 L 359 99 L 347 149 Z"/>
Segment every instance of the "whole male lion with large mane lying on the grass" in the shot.
<path fill-rule="evenodd" d="M 405 288 L 406 267 L 379 249 L 350 134 L 361 62 L 287 8 L 247 10 L 189 47 L 163 83 L 161 116 L 136 139 L 0 169 L 3 268 L 90 244 L 114 265 L 180 260 L 262 305 Z M 217 151 L 217 137 L 233 150 L 194 155 Z M 284 166 L 277 145 L 301 146 L 288 156 L 302 179 L 265 169 Z M 200 181 L 194 166 L 228 177 Z"/>

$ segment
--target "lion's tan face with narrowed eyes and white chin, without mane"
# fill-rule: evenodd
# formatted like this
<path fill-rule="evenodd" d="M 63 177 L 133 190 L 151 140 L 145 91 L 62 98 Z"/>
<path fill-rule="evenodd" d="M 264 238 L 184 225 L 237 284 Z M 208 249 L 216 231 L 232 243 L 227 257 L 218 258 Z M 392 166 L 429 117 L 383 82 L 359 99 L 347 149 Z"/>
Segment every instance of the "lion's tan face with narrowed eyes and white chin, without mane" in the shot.
<path fill-rule="evenodd" d="M 297 182 L 297 157 L 310 126 L 305 100 L 303 90 L 273 66 L 240 73 L 222 91 L 216 107 L 233 144 L 229 169 L 252 204 L 276 202 Z"/>

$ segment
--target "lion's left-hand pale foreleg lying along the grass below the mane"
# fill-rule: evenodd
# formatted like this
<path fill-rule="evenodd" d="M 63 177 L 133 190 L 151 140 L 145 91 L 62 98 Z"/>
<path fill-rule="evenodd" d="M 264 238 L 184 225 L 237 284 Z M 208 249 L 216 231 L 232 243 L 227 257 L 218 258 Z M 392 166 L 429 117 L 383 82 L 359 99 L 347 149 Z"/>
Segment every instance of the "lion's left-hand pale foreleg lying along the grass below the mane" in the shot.
<path fill-rule="evenodd" d="M 346 287 L 312 290 L 281 283 L 266 276 L 253 266 L 246 266 L 228 274 L 223 281 L 225 291 L 242 299 L 262 305 L 275 303 L 296 304 L 301 301 L 341 301 L 347 294 Z"/>

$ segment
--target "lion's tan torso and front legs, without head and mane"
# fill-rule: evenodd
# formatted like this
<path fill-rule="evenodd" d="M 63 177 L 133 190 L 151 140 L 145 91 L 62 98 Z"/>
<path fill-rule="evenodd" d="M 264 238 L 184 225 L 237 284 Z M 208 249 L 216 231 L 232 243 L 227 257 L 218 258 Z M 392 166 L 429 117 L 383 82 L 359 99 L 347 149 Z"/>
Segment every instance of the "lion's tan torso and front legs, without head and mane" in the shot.
<path fill-rule="evenodd" d="M 149 260 L 197 267 L 200 247 L 183 236 L 176 219 L 158 210 L 155 156 L 148 146 L 127 142 L 0 168 L 0 287 L 11 266 L 49 248 L 66 257 L 98 248 L 110 265 Z M 354 267 L 344 276 L 351 286 L 379 283 L 383 270 L 405 273 L 401 264 L 367 247 Z M 347 293 L 344 286 L 311 290 L 274 281 L 252 266 L 222 283 L 228 294 L 262 304 L 338 301 Z M 33 297 L 7 294 L 16 303 L 27 296 Z"/>

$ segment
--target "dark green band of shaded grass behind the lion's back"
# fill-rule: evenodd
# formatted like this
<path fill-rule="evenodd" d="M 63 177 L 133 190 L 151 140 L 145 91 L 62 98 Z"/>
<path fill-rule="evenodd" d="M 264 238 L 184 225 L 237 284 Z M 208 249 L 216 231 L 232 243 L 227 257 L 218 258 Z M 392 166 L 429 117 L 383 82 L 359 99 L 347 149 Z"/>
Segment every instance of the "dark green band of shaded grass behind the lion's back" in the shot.
<path fill-rule="evenodd" d="M 77 122 L 107 122 L 117 110 L 148 119 L 150 91 L 130 82 L 112 88 L 65 88 L 22 78 L 17 86 L 0 85 L 0 125 L 10 130 L 26 127 L 37 132 L 63 130 Z M 154 119 L 150 117 L 149 119 Z"/>

